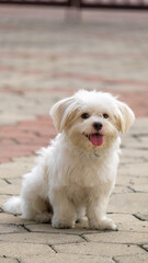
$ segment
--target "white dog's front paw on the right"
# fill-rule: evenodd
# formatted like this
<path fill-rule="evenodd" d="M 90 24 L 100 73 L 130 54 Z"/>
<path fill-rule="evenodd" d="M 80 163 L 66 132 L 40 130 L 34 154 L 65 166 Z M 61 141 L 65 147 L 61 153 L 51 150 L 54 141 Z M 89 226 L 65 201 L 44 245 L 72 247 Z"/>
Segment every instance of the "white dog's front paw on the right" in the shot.
<path fill-rule="evenodd" d="M 91 220 L 90 228 L 98 230 L 113 230 L 113 231 L 117 230 L 115 222 L 111 218 L 105 218 L 99 221 Z"/>

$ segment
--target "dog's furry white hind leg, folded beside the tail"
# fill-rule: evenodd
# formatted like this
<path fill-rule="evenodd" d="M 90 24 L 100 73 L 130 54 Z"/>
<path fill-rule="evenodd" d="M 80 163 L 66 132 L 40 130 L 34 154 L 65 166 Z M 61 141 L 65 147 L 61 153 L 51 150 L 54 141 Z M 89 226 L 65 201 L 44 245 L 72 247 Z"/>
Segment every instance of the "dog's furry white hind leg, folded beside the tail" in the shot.
<path fill-rule="evenodd" d="M 21 192 L 21 210 L 23 218 L 45 221 L 45 216 L 44 219 L 41 219 L 41 215 L 47 214 L 50 206 L 46 194 L 48 186 L 44 183 L 43 178 L 43 167 L 36 167 L 31 173 L 24 175 Z"/>

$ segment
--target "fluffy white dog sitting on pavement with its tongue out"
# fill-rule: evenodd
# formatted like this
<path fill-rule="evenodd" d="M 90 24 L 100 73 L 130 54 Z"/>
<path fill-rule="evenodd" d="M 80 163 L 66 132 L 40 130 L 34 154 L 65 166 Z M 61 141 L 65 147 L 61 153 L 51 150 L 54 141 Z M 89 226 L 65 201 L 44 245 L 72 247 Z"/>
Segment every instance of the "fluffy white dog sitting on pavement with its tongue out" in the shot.
<path fill-rule="evenodd" d="M 37 165 L 23 176 L 21 195 L 3 210 L 54 228 L 73 228 L 88 217 L 91 229 L 116 229 L 106 217 L 115 184 L 121 138 L 133 111 L 105 92 L 80 90 L 50 110 L 58 135 L 41 150 Z"/>

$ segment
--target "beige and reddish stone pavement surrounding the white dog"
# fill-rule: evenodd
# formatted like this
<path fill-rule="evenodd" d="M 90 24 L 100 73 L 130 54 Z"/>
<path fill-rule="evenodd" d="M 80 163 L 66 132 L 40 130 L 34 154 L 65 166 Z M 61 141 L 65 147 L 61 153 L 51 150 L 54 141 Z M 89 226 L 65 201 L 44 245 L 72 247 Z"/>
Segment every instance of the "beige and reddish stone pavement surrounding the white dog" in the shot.
<path fill-rule="evenodd" d="M 148 262 L 148 13 L 0 5 L 0 206 L 56 135 L 49 107 L 78 89 L 119 95 L 136 114 L 123 137 L 107 213 L 117 232 L 55 230 L 0 209 L 0 263 Z"/>

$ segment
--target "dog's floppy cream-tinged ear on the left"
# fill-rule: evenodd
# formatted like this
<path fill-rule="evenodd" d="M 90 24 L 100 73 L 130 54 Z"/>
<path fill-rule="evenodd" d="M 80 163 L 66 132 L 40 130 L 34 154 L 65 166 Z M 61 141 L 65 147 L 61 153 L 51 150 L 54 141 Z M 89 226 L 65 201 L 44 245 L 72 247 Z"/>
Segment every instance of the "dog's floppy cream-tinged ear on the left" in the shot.
<path fill-rule="evenodd" d="M 70 96 L 57 102 L 50 108 L 50 116 L 57 132 L 61 133 L 64 128 L 73 121 L 78 111 L 78 102 L 75 98 Z"/>

